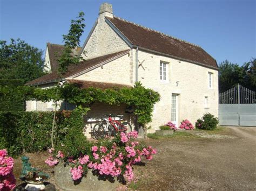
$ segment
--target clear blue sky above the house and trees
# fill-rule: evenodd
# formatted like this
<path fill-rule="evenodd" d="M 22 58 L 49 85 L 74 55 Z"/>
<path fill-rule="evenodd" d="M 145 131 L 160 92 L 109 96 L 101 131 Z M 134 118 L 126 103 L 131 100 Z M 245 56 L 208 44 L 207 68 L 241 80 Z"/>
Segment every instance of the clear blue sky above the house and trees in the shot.
<path fill-rule="evenodd" d="M 197 44 L 217 62 L 240 65 L 256 57 L 256 1 L 87 1 L 0 0 L 0 39 L 21 38 L 45 49 L 46 42 L 62 44 L 70 20 L 85 13 L 87 34 L 103 2 L 113 5 L 114 15 Z"/>

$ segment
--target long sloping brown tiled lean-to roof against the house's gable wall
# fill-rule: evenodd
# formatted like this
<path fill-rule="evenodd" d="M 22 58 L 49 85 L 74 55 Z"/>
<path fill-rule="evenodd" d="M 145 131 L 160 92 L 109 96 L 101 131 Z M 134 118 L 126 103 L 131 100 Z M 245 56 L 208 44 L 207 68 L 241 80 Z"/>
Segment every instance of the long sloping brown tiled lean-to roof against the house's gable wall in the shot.
<path fill-rule="evenodd" d="M 63 76 L 63 79 L 65 79 L 66 77 L 75 75 L 79 72 L 82 72 L 86 69 L 89 69 L 93 66 L 96 66 L 99 63 L 103 63 L 105 61 L 111 60 L 111 59 L 115 58 L 116 56 L 123 55 L 123 54 L 128 53 L 128 52 L 129 52 L 129 50 L 120 51 L 120 52 L 116 52 L 116 53 L 112 53 L 112 54 L 99 56 L 97 58 L 89 59 L 89 60 L 86 60 L 86 61 L 82 61 L 82 62 L 79 63 L 79 65 L 71 65 L 68 69 L 68 72 L 66 72 L 66 74 Z M 41 76 L 38 79 L 32 80 L 32 81 L 26 83 L 26 85 L 36 86 L 38 84 L 49 83 L 49 82 L 52 82 L 52 81 L 55 81 L 55 80 L 56 81 L 59 80 L 57 70 L 54 70 L 50 74 L 46 74 L 44 76 Z"/>

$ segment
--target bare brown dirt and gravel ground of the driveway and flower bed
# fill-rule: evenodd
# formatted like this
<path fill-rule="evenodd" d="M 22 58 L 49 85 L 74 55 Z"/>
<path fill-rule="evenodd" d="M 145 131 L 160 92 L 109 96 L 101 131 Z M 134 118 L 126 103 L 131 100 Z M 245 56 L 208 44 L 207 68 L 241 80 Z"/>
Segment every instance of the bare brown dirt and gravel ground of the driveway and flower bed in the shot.
<path fill-rule="evenodd" d="M 158 139 L 152 139 L 158 138 Z M 172 137 L 152 137 L 153 160 L 134 166 L 134 190 L 256 190 L 256 128 L 193 131 Z M 28 154 L 31 164 L 51 175 L 44 164 L 48 153 Z M 18 180 L 21 160 L 15 159 Z M 21 183 L 18 180 L 17 183 Z"/>

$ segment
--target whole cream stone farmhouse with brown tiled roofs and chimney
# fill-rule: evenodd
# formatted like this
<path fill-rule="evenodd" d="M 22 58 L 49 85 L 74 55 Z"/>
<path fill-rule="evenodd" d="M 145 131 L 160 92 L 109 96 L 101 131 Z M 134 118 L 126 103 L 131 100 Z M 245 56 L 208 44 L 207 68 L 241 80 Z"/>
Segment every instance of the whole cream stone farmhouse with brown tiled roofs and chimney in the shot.
<path fill-rule="evenodd" d="M 47 44 L 45 70 L 50 73 L 28 83 L 48 88 L 58 81 L 57 56 L 62 45 Z M 218 116 L 218 65 L 203 48 L 113 15 L 112 5 L 100 6 L 99 16 L 83 47 L 74 50 L 85 61 L 63 77 L 83 88 L 132 87 L 142 82 L 161 95 L 154 105 L 150 132 L 172 121 L 195 123 L 206 112 Z M 85 52 L 85 53 L 84 53 Z M 67 109 L 68 104 L 62 104 Z M 126 105 L 93 104 L 87 119 L 125 114 Z M 26 110 L 52 110 L 52 103 L 29 101 Z M 85 121 L 87 120 L 85 119 Z"/>

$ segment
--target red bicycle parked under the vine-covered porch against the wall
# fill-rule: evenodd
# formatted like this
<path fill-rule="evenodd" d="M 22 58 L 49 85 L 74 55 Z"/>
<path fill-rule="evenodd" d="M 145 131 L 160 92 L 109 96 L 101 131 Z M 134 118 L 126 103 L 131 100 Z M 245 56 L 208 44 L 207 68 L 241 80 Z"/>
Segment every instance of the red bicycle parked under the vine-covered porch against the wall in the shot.
<path fill-rule="evenodd" d="M 121 119 L 116 120 L 114 117 L 119 117 Z M 93 128 L 95 138 L 105 138 L 107 136 L 115 136 L 118 132 L 131 132 L 132 126 L 128 122 L 122 122 L 123 116 L 113 116 L 110 114 L 106 119 L 100 124 L 96 124 Z"/>

